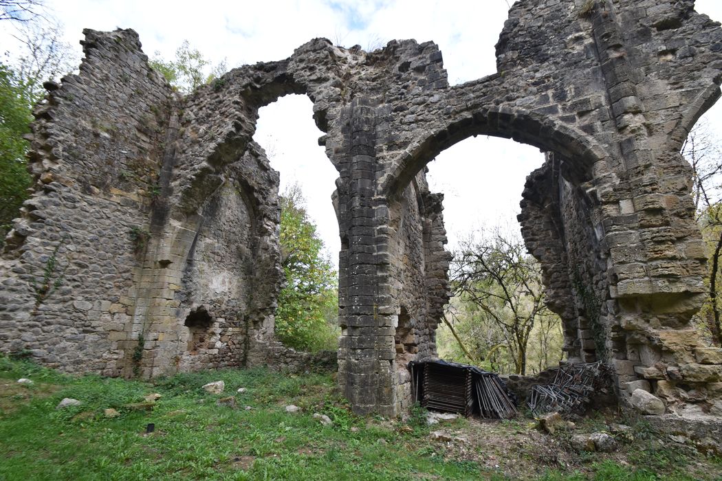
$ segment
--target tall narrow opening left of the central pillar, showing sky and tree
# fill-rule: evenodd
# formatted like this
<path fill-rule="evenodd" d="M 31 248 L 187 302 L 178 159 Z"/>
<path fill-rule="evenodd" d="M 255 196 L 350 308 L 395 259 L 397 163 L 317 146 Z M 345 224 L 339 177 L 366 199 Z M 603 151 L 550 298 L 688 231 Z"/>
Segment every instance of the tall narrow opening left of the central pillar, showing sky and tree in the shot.
<path fill-rule="evenodd" d="M 285 94 L 259 108 L 253 136 L 279 175 L 284 285 L 269 330 L 286 347 L 305 352 L 335 351 L 340 335 L 339 225 L 332 201 L 339 174 L 316 140 L 324 132 L 312 111 L 305 94 Z"/>

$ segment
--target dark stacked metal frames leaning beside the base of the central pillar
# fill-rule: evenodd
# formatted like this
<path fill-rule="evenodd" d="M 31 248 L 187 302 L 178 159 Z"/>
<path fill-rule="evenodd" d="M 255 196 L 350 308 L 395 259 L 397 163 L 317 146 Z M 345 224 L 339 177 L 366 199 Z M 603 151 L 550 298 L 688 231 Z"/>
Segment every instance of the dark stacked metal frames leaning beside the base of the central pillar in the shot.
<path fill-rule="evenodd" d="M 513 418 L 517 414 L 497 374 L 445 361 L 414 362 L 410 367 L 414 400 L 423 407 L 487 419 Z"/>

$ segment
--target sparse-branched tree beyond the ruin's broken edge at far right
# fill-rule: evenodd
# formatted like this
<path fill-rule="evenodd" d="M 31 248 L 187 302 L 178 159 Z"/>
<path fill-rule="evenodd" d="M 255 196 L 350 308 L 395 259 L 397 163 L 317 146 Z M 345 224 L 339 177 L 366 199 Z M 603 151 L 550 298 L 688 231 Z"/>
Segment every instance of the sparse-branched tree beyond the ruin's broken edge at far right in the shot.
<path fill-rule="evenodd" d="M 722 345 L 722 148 L 709 123 L 701 120 L 682 146 L 682 155 L 692 166 L 692 201 L 697 211 L 697 224 L 707 244 L 708 299 L 696 315 L 697 325 L 708 330 L 708 337 Z"/>

